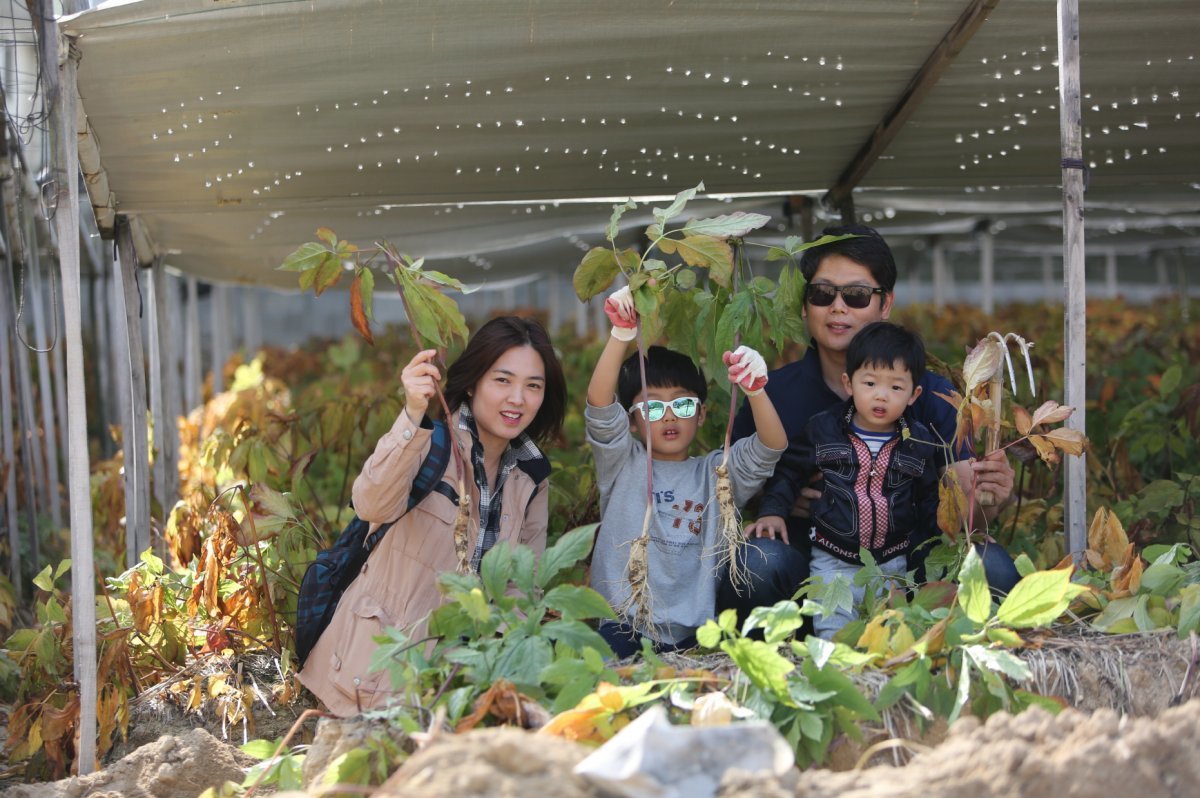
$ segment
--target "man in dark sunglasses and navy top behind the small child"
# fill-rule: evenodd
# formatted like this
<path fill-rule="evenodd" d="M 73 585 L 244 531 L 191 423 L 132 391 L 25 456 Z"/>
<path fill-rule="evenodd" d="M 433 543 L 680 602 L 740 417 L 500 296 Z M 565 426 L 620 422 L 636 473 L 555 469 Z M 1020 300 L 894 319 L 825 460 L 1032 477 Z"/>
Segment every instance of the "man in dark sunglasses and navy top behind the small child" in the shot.
<path fill-rule="evenodd" d="M 821 494 L 821 484 L 803 488 L 793 506 L 782 506 L 778 499 L 773 500 L 772 488 L 778 480 L 794 479 L 798 474 L 799 448 L 809 419 L 847 398 L 841 376 L 846 371 L 846 349 L 854 334 L 892 314 L 896 265 L 883 238 L 863 224 L 826 228 L 823 235 L 856 238 L 812 247 L 800 257 L 800 271 L 808 283 L 802 314 L 809 330 L 810 347 L 800 360 L 770 372 L 767 384 L 767 395 L 775 404 L 791 443 L 775 467 L 775 475 L 763 488 L 758 518 L 745 529 L 746 535 L 758 538 L 756 546 L 748 547 L 746 552 L 746 564 L 754 575 L 751 586 L 739 594 L 726 583 L 718 600 L 719 608 L 736 608 L 743 617 L 754 607 L 791 599 L 809 577 L 808 509 L 809 503 Z M 920 385 L 922 395 L 911 408 L 913 418 L 947 443 L 950 442 L 956 427 L 955 410 L 937 394 L 947 394 L 953 386 L 946 378 L 928 372 Z M 754 428 L 754 419 L 743 406 L 734 420 L 733 439 L 750 434 Z M 974 523 L 983 529 L 1012 496 L 1013 468 L 1000 451 L 972 460 L 971 451 L 962 448 L 953 456 L 956 462 L 952 467 L 968 494 L 972 490 L 990 491 L 997 498 L 996 504 L 989 508 L 974 504 Z M 919 560 L 922 553 L 918 552 L 910 562 Z M 1006 593 L 1012 589 L 1020 575 L 1008 553 L 990 542 L 980 550 L 980 554 L 989 584 Z"/>

